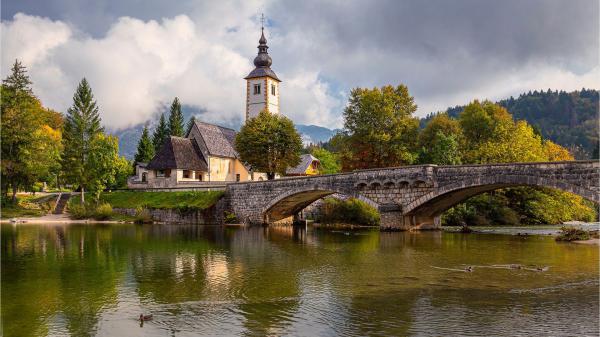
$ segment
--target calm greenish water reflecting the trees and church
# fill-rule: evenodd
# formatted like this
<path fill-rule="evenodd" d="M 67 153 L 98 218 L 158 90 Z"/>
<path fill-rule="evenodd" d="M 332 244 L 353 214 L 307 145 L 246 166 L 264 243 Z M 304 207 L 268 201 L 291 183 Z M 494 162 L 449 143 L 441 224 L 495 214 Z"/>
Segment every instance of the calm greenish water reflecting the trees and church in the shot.
<path fill-rule="evenodd" d="M 598 266 L 597 246 L 547 236 L 2 225 L 2 324 L 5 336 L 597 336 Z M 140 313 L 153 321 L 140 327 Z"/>

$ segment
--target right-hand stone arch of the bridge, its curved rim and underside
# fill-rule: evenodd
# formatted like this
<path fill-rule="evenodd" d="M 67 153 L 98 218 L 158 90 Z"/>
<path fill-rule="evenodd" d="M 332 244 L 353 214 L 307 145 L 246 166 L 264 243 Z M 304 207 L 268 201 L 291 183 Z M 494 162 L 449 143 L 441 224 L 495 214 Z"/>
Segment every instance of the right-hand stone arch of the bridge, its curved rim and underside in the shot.
<path fill-rule="evenodd" d="M 565 192 L 577 194 L 596 204 L 600 203 L 598 193 L 574 185 L 567 181 L 556 179 L 525 176 L 525 175 L 489 175 L 465 179 L 432 190 L 431 192 L 417 198 L 403 208 L 405 215 L 437 216 L 452 206 L 459 204 L 475 195 L 490 192 L 500 188 L 518 186 L 549 187 Z"/>

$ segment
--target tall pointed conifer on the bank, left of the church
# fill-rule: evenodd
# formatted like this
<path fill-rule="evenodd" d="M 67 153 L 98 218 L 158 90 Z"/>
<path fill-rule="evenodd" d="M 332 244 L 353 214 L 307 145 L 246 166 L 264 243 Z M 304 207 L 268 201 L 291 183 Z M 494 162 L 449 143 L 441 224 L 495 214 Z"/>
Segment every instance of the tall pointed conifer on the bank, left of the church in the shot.
<path fill-rule="evenodd" d="M 93 141 L 103 131 L 92 89 L 84 78 L 77 86 L 73 105 L 67 110 L 63 132 L 63 169 L 67 181 L 81 188 L 82 204 L 85 202 L 86 189 L 96 187 L 97 172 L 90 167 L 90 161 L 95 158 L 94 151 L 100 149 Z"/>

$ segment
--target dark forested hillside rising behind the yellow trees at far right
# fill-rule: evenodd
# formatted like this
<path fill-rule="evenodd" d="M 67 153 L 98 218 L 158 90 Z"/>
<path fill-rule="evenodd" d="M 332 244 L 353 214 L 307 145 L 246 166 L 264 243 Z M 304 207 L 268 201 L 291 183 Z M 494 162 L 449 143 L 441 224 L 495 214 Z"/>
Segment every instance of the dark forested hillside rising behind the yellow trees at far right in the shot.
<path fill-rule="evenodd" d="M 599 91 L 529 91 L 518 98 L 496 102 L 516 120 L 526 120 L 542 136 L 560 144 L 577 159 L 597 158 L 598 151 L 598 96 Z M 457 118 L 465 106 L 448 108 L 450 117 Z M 432 114 L 421 120 L 425 125 Z"/>

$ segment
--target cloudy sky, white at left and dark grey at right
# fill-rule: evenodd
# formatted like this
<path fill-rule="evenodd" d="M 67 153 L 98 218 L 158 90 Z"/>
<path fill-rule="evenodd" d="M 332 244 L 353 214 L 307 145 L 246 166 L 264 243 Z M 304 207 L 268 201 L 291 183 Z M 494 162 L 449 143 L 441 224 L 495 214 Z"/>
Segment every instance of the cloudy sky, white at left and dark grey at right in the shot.
<path fill-rule="evenodd" d="M 408 86 L 418 116 L 529 90 L 600 87 L 597 0 L 3 0 L 0 74 L 27 67 L 45 106 L 66 111 L 87 78 L 113 130 L 177 96 L 239 124 L 260 14 L 281 111 L 343 126 L 350 90 Z"/>

